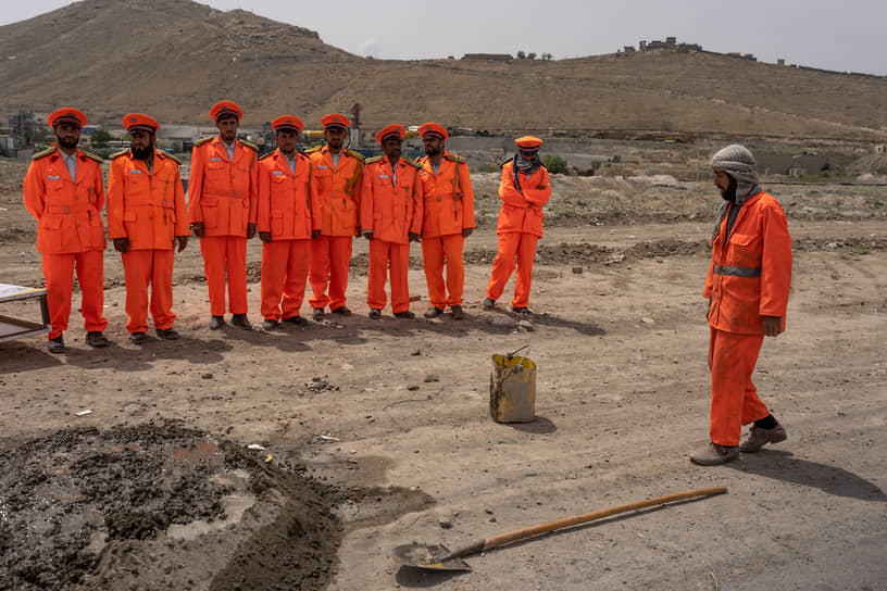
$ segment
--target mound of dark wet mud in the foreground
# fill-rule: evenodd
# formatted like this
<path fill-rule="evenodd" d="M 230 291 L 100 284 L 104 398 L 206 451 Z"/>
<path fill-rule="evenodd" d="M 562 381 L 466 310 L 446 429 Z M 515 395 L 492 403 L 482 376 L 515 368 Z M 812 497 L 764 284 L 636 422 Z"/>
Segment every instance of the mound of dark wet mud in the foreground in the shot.
<path fill-rule="evenodd" d="M 0 452 L 0 490 L 2 590 L 201 575 L 211 589 L 321 589 L 340 538 L 337 489 L 176 424 L 28 441 Z"/>

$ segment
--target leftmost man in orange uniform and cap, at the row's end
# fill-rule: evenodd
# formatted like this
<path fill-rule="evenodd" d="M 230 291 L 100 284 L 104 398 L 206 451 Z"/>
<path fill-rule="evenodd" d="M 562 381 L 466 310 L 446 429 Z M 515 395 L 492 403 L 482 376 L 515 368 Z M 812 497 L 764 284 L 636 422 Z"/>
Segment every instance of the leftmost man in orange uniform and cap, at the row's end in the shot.
<path fill-rule="evenodd" d="M 52 329 L 49 350 L 64 351 L 62 332 L 71 316 L 74 268 L 80 285 L 86 342 L 108 347 L 104 305 L 104 188 L 101 159 L 77 148 L 86 115 L 70 106 L 53 111 L 49 124 L 55 146 L 34 154 L 25 176 L 25 208 L 37 218 L 37 251 L 43 261 Z"/>

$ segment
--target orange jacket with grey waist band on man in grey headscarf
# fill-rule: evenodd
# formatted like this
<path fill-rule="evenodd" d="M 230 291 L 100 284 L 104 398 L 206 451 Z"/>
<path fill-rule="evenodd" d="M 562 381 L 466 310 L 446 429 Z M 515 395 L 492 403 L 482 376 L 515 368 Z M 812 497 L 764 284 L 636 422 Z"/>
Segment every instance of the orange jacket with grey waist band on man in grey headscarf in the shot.
<path fill-rule="evenodd" d="M 727 332 L 763 335 L 763 316 L 778 316 L 785 329 L 791 237 L 783 208 L 761 191 L 742 204 L 725 240 L 726 223 L 725 216 L 712 243 L 702 293 L 711 299 L 709 325 Z"/>

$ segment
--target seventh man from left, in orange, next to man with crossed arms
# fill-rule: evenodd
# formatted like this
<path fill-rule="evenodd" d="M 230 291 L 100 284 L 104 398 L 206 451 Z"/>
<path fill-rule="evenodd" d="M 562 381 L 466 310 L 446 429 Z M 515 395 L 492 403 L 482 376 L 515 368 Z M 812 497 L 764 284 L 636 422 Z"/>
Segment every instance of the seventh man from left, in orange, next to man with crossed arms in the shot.
<path fill-rule="evenodd" d="M 422 171 L 425 217 L 422 223 L 422 260 L 428 299 L 432 306 L 426 318 L 443 314 L 450 306 L 454 320 L 465 317 L 462 311 L 462 287 L 465 266 L 462 247 L 474 231 L 474 191 L 464 158 L 447 151 L 447 130 L 436 123 L 420 126 L 418 135 L 425 144 L 425 156 L 418 159 Z M 443 262 L 447 262 L 447 282 L 443 284 Z M 447 291 L 450 294 L 447 297 Z"/>

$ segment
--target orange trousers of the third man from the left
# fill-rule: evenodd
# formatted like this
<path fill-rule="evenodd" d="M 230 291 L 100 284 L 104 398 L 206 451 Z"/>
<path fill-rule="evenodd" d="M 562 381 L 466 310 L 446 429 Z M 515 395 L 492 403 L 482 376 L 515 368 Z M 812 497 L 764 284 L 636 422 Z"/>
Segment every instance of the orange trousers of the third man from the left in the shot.
<path fill-rule="evenodd" d="M 200 239 L 203 273 L 210 290 L 210 314 L 225 315 L 225 276 L 232 314 L 246 314 L 247 238 L 245 236 L 204 236 Z"/>

